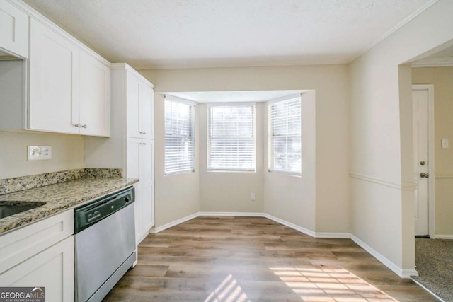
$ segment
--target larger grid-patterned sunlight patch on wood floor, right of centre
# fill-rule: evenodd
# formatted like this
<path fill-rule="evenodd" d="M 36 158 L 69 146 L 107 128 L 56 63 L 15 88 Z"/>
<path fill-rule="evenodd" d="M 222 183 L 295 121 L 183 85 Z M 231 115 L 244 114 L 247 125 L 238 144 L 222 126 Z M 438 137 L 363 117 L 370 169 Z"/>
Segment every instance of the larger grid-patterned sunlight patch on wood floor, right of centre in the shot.
<path fill-rule="evenodd" d="M 271 267 L 305 302 L 394 302 L 391 296 L 343 267 Z"/>

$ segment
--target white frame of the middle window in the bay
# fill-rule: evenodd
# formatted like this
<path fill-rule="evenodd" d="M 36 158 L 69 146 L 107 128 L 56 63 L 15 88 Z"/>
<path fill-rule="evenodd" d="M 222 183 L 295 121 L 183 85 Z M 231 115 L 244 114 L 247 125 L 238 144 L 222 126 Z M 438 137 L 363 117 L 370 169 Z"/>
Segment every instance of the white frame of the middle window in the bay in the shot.
<path fill-rule="evenodd" d="M 210 114 L 212 107 L 251 107 L 253 111 L 253 137 L 248 139 L 253 139 L 253 168 L 250 169 L 239 169 L 239 168 L 212 168 L 210 167 L 210 142 L 211 142 L 211 124 L 210 124 Z M 256 173 L 256 103 L 254 102 L 237 102 L 237 103 L 207 103 L 206 104 L 206 169 L 207 172 L 231 172 L 231 173 Z M 247 139 L 247 137 L 231 137 L 231 139 Z"/>

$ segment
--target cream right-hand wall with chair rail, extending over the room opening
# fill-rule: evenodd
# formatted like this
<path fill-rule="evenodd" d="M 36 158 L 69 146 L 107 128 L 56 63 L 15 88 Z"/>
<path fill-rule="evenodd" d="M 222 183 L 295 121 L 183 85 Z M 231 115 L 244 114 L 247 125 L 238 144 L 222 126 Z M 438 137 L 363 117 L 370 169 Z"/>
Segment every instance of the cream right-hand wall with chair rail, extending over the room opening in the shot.
<path fill-rule="evenodd" d="M 411 68 L 453 39 L 440 0 L 350 64 L 352 233 L 401 270 L 414 269 Z"/>

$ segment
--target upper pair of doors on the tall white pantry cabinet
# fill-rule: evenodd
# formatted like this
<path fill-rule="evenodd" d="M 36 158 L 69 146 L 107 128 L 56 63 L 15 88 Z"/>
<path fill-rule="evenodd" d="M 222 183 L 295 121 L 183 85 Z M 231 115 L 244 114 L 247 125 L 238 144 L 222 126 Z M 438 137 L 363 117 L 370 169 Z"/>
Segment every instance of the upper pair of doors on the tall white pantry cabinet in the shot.
<path fill-rule="evenodd" d="M 148 81 L 130 71 L 127 71 L 126 83 L 126 136 L 153 139 L 154 90 Z"/>

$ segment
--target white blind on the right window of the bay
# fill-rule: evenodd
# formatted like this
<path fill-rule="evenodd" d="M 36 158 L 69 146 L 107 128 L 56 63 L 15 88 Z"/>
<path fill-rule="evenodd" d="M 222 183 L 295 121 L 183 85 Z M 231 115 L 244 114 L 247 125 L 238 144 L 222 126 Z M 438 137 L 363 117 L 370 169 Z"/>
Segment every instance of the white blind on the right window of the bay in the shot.
<path fill-rule="evenodd" d="M 301 98 L 268 104 L 269 170 L 301 174 Z"/>

